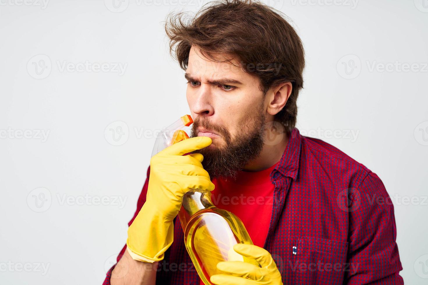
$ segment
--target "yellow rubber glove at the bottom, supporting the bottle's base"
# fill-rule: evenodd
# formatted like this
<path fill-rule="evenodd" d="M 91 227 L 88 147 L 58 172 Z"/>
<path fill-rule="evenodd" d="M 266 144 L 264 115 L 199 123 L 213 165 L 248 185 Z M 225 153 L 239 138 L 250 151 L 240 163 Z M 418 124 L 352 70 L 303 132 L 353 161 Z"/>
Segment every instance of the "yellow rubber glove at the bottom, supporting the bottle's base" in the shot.
<path fill-rule="evenodd" d="M 233 249 L 243 256 L 255 259 L 262 267 L 244 261 L 222 261 L 217 263 L 217 268 L 227 274 L 211 276 L 212 283 L 217 285 L 282 285 L 281 273 L 267 250 L 253 244 L 235 244 Z"/>

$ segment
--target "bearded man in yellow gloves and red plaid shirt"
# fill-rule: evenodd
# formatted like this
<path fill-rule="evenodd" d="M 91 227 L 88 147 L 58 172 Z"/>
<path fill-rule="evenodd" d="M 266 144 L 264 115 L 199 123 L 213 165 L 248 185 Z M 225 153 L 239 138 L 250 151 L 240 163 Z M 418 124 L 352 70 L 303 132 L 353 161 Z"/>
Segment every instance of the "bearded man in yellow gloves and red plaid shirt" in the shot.
<path fill-rule="evenodd" d="M 176 219 L 193 188 L 241 218 L 254 245 L 234 250 L 260 264 L 220 262 L 213 284 L 403 284 L 393 206 L 373 203 L 388 198 L 379 177 L 295 128 L 304 52 L 287 21 L 233 0 L 173 15 L 166 33 L 192 138 L 152 157 L 104 284 L 201 284 Z"/>

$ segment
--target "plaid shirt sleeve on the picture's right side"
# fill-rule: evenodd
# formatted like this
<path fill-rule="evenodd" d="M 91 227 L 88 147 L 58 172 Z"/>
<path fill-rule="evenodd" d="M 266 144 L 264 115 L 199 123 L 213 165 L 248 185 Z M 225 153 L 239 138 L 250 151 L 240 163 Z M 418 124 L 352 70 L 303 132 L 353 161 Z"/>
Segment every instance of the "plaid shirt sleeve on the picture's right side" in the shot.
<path fill-rule="evenodd" d="M 349 212 L 350 271 L 344 284 L 404 284 L 395 242 L 394 206 L 380 178 L 369 172 L 354 190 Z"/>

